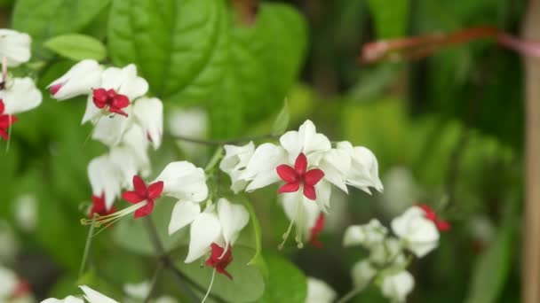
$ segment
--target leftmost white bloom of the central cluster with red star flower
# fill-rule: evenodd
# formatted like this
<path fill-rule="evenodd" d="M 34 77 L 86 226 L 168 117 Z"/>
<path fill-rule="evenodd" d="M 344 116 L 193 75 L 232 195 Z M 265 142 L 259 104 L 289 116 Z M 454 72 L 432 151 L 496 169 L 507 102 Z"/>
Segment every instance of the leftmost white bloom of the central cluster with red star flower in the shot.
<path fill-rule="evenodd" d="M 243 170 L 248 166 L 255 144 L 250 142 L 243 146 L 225 145 L 225 157 L 219 163 L 219 168 L 231 177 L 231 190 L 238 193 L 247 186 L 247 181 L 242 179 Z"/>

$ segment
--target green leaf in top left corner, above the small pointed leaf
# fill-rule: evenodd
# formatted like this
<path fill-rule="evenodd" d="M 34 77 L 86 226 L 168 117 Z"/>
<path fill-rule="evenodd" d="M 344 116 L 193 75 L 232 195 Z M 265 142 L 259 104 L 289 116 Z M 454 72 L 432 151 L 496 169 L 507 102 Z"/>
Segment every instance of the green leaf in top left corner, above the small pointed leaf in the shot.
<path fill-rule="evenodd" d="M 110 0 L 18 0 L 12 27 L 32 36 L 32 47 L 41 51 L 50 37 L 76 33 L 87 26 Z"/>

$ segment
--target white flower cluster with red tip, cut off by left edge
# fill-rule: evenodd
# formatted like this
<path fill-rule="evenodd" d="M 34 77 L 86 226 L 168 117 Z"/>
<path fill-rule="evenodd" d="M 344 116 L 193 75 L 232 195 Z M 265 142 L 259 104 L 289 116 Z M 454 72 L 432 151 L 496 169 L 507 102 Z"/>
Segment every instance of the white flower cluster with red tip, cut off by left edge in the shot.
<path fill-rule="evenodd" d="M 15 115 L 36 108 L 42 102 L 41 91 L 30 77 L 16 78 L 8 74 L 7 68 L 20 66 L 30 59 L 31 38 L 12 29 L 0 29 L 0 58 L 2 79 L 0 80 L 0 136 L 7 141 Z"/>

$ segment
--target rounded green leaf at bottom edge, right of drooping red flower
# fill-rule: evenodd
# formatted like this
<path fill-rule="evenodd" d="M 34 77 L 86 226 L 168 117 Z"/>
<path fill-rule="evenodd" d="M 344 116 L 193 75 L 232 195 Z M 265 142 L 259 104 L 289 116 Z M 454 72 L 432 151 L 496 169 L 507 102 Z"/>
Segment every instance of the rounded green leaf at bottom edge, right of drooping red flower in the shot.
<path fill-rule="evenodd" d="M 258 303 L 306 302 L 307 282 L 304 273 L 278 254 L 270 254 L 265 260 L 270 270 L 269 280 L 265 295 Z"/>

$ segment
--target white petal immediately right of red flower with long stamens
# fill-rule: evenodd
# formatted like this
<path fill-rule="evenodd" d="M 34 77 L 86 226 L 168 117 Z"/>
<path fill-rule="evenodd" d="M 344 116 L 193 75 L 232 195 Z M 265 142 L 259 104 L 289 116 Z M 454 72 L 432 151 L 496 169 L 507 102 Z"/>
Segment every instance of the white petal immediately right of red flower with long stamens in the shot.
<path fill-rule="evenodd" d="M 208 186 L 203 168 L 187 161 L 171 162 L 155 178 L 163 181 L 163 195 L 181 200 L 202 202 L 208 197 Z"/>

